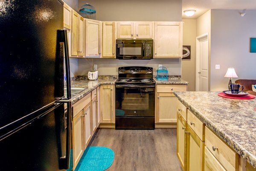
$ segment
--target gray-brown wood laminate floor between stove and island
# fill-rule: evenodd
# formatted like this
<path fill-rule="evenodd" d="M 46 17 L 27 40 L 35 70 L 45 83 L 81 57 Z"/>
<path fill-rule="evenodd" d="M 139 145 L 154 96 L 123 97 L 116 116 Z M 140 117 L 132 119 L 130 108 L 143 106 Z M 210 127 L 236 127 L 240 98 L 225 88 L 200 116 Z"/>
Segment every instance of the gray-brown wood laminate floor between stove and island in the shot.
<path fill-rule="evenodd" d="M 182 171 L 176 156 L 176 129 L 98 129 L 89 146 L 114 153 L 107 171 Z"/>

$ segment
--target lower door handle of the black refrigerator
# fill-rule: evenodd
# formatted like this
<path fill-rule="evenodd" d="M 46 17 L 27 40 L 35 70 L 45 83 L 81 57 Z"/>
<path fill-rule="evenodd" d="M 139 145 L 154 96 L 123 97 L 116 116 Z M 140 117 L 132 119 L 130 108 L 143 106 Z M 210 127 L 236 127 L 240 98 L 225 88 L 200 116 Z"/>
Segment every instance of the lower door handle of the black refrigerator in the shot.
<path fill-rule="evenodd" d="M 59 168 L 68 169 L 70 164 L 70 145 L 71 145 L 71 101 L 59 100 L 57 102 L 67 103 L 67 130 L 66 130 L 66 156 L 59 159 Z"/>

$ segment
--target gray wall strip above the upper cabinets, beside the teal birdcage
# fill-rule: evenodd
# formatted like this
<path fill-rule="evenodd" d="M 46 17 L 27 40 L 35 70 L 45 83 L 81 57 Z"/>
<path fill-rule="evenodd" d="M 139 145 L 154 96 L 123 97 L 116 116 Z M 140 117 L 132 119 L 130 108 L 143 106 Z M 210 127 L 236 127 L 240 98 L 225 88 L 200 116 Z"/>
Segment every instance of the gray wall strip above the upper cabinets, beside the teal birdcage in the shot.
<path fill-rule="evenodd" d="M 78 0 L 89 3 L 100 21 L 181 21 L 181 0 Z"/>

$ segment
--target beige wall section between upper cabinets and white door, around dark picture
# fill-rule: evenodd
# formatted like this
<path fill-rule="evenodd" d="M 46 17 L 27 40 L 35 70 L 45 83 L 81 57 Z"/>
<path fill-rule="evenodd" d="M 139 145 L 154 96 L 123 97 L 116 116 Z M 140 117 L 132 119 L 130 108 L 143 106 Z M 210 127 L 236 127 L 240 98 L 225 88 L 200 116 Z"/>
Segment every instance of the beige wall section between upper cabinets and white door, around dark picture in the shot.
<path fill-rule="evenodd" d="M 190 59 L 181 61 L 182 79 L 189 81 L 188 91 L 195 91 L 195 38 L 196 20 L 183 19 L 183 45 L 191 46 Z"/>

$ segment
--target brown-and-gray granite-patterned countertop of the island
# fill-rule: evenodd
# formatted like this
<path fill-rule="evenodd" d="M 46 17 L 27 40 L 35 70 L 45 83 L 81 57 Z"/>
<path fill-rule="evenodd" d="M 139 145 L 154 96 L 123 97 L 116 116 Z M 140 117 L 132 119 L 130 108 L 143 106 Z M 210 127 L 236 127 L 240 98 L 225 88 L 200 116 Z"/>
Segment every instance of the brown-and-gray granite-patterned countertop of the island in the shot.
<path fill-rule="evenodd" d="M 195 116 L 256 168 L 256 99 L 227 99 L 218 93 L 174 92 Z"/>

